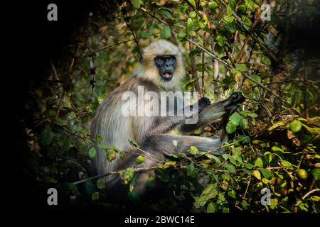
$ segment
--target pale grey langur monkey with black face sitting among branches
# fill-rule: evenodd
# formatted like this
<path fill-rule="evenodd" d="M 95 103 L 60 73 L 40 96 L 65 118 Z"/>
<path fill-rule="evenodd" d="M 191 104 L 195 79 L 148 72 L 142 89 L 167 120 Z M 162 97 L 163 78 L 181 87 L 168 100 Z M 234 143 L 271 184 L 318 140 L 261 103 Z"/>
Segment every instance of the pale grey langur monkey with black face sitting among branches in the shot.
<path fill-rule="evenodd" d="M 241 93 L 234 93 L 228 99 L 210 104 L 209 99 L 201 98 L 198 110 L 188 106 L 191 110 L 197 111 L 198 121 L 193 124 L 186 124 L 187 116 L 124 116 L 122 106 L 136 105 L 135 99 L 123 100 L 124 92 L 137 94 L 139 86 L 143 86 L 146 92 L 155 92 L 161 96 L 161 92 L 181 91 L 180 81 L 184 74 L 184 65 L 181 51 L 176 45 L 166 40 L 159 40 L 151 43 L 143 50 L 141 65 L 133 77 L 127 79 L 117 89 L 111 92 L 97 109 L 95 118 L 92 121 L 92 138 L 102 136 L 103 143 L 107 146 L 124 152 L 124 157 L 117 155 L 115 160 L 109 162 L 105 150 L 95 144 L 97 156 L 92 160 L 92 171 L 95 175 L 102 175 L 115 170 L 124 170 L 127 167 L 135 167 L 135 160 L 139 155 L 144 155 L 145 161 L 137 167 L 156 166 L 165 162 L 166 156 L 187 153 L 191 146 L 200 151 L 213 150 L 213 155 L 221 155 L 224 152 L 221 144 L 228 141 L 227 133 L 221 138 L 212 139 L 199 136 L 167 134 L 177 128 L 182 133 L 188 133 L 207 126 L 210 123 L 226 120 L 238 104 L 245 100 Z M 131 103 L 130 103 L 131 102 Z M 136 105 L 134 111 L 144 109 L 149 102 Z M 187 107 L 187 108 L 188 108 Z M 134 148 L 129 140 L 134 140 L 140 147 Z M 174 140 L 177 145 L 174 145 Z M 134 192 L 143 194 L 145 183 L 149 174 L 154 172 L 140 172 L 134 186 Z M 124 188 L 119 184 L 119 176 L 108 176 L 107 188 L 119 192 Z"/>

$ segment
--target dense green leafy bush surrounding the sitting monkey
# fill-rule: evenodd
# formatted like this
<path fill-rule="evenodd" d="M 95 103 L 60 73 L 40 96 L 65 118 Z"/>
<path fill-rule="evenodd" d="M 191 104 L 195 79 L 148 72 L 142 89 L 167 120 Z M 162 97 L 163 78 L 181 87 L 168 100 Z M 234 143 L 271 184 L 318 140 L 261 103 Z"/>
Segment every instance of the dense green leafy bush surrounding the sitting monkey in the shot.
<path fill-rule="evenodd" d="M 271 1 L 271 21 L 260 19 L 262 1 L 110 4 L 99 1 L 87 16 L 66 47 L 68 61 L 53 60 L 46 81 L 30 85 L 26 162 L 38 185 L 63 192 L 67 206 L 112 206 L 103 178 L 73 184 L 92 177 L 90 119 L 132 75 L 139 48 L 162 38 L 184 50 L 184 90 L 211 101 L 240 90 L 247 99 L 228 122 L 227 153 L 215 157 L 191 147 L 190 156 L 172 157 L 156 170 L 164 190 L 148 201 L 129 192 L 132 204 L 155 211 L 319 212 L 320 59 L 312 39 L 301 34 L 304 25 L 316 24 L 318 2 Z M 218 133 L 206 126 L 193 134 Z M 128 184 L 134 184 L 132 172 L 122 173 Z M 150 190 L 155 180 L 149 178 Z M 260 203 L 263 188 L 270 189 L 270 205 Z"/>

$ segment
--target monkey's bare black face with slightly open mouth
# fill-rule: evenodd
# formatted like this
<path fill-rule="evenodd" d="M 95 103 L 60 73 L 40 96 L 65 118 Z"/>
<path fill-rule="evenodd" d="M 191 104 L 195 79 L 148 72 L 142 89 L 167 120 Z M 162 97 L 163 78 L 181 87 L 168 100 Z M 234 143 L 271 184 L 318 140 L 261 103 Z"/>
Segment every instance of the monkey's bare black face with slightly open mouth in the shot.
<path fill-rule="evenodd" d="M 176 69 L 176 56 L 174 55 L 158 55 L 154 57 L 154 64 L 159 69 L 162 79 L 170 81 L 174 76 Z"/>

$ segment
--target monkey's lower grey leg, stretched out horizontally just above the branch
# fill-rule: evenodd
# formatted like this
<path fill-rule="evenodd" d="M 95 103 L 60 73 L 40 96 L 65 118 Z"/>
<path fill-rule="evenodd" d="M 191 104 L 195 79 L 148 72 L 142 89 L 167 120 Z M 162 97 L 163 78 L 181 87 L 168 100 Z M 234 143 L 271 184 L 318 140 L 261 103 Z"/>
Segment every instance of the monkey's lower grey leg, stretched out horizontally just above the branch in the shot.
<path fill-rule="evenodd" d="M 174 140 L 177 141 L 177 146 L 174 145 Z M 191 146 L 195 146 L 200 152 L 210 150 L 210 153 L 213 155 L 222 155 L 225 152 L 225 149 L 221 148 L 224 140 L 228 140 L 228 136 L 212 139 L 188 135 L 151 135 L 144 140 L 141 148 L 132 148 L 124 154 L 124 158 L 120 161 L 118 170 L 125 170 L 127 167 L 156 167 L 159 163 L 166 162 L 166 158 L 169 155 L 178 155 L 180 153 L 188 154 L 188 150 Z M 142 164 L 136 166 L 135 161 L 139 155 L 144 155 L 146 159 Z M 149 175 L 154 174 L 154 170 L 139 172 L 134 184 L 134 192 L 141 195 L 144 194 L 144 192 L 146 192 L 146 181 Z M 127 190 L 127 187 L 121 182 L 122 180 L 118 178 L 112 186 L 113 192 L 116 193 L 115 195 L 119 192 L 126 192 Z"/>

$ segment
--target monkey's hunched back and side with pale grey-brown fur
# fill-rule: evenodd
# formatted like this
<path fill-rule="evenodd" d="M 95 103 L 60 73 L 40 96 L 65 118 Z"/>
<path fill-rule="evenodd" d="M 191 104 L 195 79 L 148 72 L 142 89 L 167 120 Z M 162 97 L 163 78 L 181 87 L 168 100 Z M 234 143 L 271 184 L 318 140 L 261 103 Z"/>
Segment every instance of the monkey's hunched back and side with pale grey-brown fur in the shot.
<path fill-rule="evenodd" d="M 119 162 L 119 155 L 112 162 L 108 162 L 105 150 L 98 147 L 97 144 L 102 143 L 107 146 L 114 146 L 125 152 L 131 146 L 129 140 L 140 143 L 144 135 L 139 131 L 144 132 L 146 128 L 152 125 L 154 121 L 152 117 L 124 116 L 122 114 L 122 105 L 127 102 L 122 100 L 122 95 L 124 92 L 133 92 L 137 97 L 140 85 L 144 86 L 144 92 L 159 92 L 159 89 L 154 84 L 146 83 L 139 77 L 132 77 L 108 94 L 98 107 L 95 118 L 92 120 L 91 136 L 94 139 L 97 136 L 102 136 L 103 140 L 95 143 L 97 156 L 92 160 L 92 173 L 94 175 L 116 170 Z M 137 106 L 137 109 L 139 109 L 139 106 Z M 108 180 L 110 179 L 112 177 L 108 177 Z"/>

